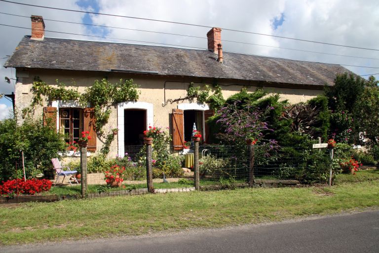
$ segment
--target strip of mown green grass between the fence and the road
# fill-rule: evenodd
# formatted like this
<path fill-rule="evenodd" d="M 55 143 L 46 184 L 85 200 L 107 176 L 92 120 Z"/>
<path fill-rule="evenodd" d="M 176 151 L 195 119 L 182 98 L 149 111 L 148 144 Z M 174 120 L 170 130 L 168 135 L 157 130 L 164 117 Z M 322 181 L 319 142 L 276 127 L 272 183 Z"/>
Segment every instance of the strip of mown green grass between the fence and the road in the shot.
<path fill-rule="evenodd" d="M 379 180 L 0 205 L 0 243 L 221 227 L 378 206 Z"/>

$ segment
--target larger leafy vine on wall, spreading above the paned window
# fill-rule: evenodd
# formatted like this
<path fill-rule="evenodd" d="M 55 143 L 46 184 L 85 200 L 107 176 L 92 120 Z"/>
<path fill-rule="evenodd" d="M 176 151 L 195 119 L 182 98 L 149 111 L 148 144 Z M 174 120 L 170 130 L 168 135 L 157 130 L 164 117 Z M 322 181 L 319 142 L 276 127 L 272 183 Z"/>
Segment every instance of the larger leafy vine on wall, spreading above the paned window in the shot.
<path fill-rule="evenodd" d="M 111 84 L 105 78 L 100 81 L 96 80 L 82 94 L 77 91 L 77 88 L 67 88 L 66 84 L 59 83 L 58 80 L 56 82 L 57 87 L 53 87 L 38 77 L 35 78 L 32 86 L 32 102 L 29 107 L 22 110 L 23 117 L 32 113 L 36 106 L 42 105 L 42 96 L 45 96 L 49 104 L 55 100 L 79 100 L 83 107 L 88 103 L 94 107 L 96 130 L 102 134 L 102 128 L 108 123 L 111 115 L 109 106 L 124 101 L 136 101 L 141 93 L 137 89 L 138 85 L 134 84 L 132 79 L 125 81 L 120 79 L 116 84 Z"/>

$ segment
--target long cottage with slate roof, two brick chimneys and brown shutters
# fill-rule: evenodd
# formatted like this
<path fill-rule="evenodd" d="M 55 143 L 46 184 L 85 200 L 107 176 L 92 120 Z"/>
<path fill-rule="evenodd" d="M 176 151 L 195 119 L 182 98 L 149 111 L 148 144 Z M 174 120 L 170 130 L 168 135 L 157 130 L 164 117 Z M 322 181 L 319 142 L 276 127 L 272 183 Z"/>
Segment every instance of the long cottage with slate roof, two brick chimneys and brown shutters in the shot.
<path fill-rule="evenodd" d="M 124 154 L 125 146 L 140 144 L 142 132 L 149 126 L 170 127 L 175 150 L 182 149 L 183 141 L 189 140 L 193 123 L 207 141 L 205 121 L 213 114 L 209 106 L 189 100 L 168 102 L 185 97 L 190 83 L 218 84 L 224 98 L 242 87 L 249 91 L 265 87 L 297 103 L 321 94 L 324 84 L 333 85 L 336 74 L 347 71 L 334 64 L 223 53 L 220 28 L 207 33 L 208 50 L 198 50 L 46 38 L 42 17 L 31 19 L 32 35 L 21 40 L 4 65 L 16 69 L 16 109 L 30 104 L 35 77 L 51 85 L 59 80 L 77 87 L 79 92 L 103 78 L 111 83 L 133 79 L 140 85 L 138 101 L 114 105 L 105 126 L 119 129 L 111 145 L 118 154 Z M 104 139 L 93 129 L 92 108 L 82 108 L 78 101 L 52 101 L 43 106 L 35 115 L 50 114 L 57 130 L 69 133 L 72 140 L 81 130 L 88 130 L 93 137 L 88 150 L 100 150 Z"/>

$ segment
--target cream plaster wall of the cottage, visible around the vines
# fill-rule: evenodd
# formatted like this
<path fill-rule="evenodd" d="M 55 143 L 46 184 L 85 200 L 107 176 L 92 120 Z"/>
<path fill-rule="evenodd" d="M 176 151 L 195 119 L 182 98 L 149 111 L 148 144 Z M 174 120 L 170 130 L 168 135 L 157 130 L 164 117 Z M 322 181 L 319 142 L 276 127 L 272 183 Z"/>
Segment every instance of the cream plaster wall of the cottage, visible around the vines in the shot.
<path fill-rule="evenodd" d="M 172 109 L 178 108 L 180 103 L 195 103 L 196 101 L 184 100 L 178 103 L 168 103 L 165 101 L 168 99 L 177 99 L 180 97 L 185 97 L 187 94 L 187 89 L 190 82 L 194 85 L 202 85 L 201 83 L 207 83 L 207 80 L 200 79 L 189 79 L 186 78 L 175 78 L 175 77 L 156 77 L 152 75 L 135 75 L 129 73 L 100 73 L 100 72 L 79 72 L 79 71 L 52 71 L 52 70 L 21 70 L 17 69 L 16 76 L 18 82 L 16 84 L 15 91 L 15 106 L 16 109 L 21 111 L 23 108 L 27 107 L 33 97 L 31 88 L 35 77 L 39 77 L 42 81 L 56 85 L 56 80 L 67 84 L 70 88 L 77 88 L 79 92 L 83 92 L 86 87 L 89 87 L 95 80 L 100 80 L 102 78 L 108 78 L 111 83 L 116 83 L 119 79 L 130 79 L 134 80 L 134 83 L 140 85 L 139 90 L 141 91 L 139 102 L 146 102 L 152 104 L 152 122 L 153 126 L 158 127 L 171 127 L 170 117 Z M 180 80 L 179 82 L 173 82 L 175 80 Z M 211 83 L 211 82 L 209 82 Z M 208 83 L 208 84 L 209 84 Z M 235 82 L 218 82 L 223 90 L 224 98 L 229 97 L 241 90 L 244 84 L 236 84 Z M 250 86 L 249 91 L 256 90 L 257 86 Z M 290 103 L 305 102 L 306 100 L 315 97 L 322 93 L 319 89 L 304 89 L 304 88 L 285 88 L 285 87 L 267 87 L 265 88 L 270 93 L 279 93 L 282 99 L 288 99 Z M 43 106 L 51 106 L 46 101 L 43 101 Z M 112 128 L 118 127 L 117 123 L 117 105 L 109 105 L 111 109 L 111 116 L 108 124 L 103 128 L 105 133 L 111 131 Z M 42 106 L 39 106 L 35 110 L 35 117 L 42 116 Z M 103 146 L 104 138 L 101 136 L 97 139 L 97 150 Z M 117 154 L 117 149 L 119 148 L 119 140 L 114 139 L 111 145 L 112 156 Z"/>

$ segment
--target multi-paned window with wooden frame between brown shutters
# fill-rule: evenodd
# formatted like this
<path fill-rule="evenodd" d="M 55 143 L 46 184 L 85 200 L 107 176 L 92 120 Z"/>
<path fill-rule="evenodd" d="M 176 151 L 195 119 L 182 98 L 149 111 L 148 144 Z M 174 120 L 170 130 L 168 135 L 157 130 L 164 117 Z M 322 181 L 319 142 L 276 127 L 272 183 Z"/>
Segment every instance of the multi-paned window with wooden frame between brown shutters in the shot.
<path fill-rule="evenodd" d="M 80 133 L 83 131 L 83 110 L 78 108 L 60 108 L 59 131 L 65 134 L 66 142 L 77 142 Z"/>

